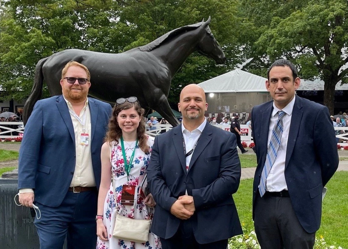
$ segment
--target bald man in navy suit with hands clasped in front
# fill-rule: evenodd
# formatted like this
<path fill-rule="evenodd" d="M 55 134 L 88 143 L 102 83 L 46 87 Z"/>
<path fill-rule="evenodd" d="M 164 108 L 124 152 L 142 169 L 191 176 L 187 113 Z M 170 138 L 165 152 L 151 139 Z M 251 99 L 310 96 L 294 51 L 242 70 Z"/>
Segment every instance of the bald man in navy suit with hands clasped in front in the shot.
<path fill-rule="evenodd" d="M 232 194 L 240 181 L 236 136 L 207 123 L 202 88 L 180 94 L 182 124 L 155 138 L 148 167 L 157 202 L 151 232 L 164 249 L 226 249 L 242 234 Z"/>

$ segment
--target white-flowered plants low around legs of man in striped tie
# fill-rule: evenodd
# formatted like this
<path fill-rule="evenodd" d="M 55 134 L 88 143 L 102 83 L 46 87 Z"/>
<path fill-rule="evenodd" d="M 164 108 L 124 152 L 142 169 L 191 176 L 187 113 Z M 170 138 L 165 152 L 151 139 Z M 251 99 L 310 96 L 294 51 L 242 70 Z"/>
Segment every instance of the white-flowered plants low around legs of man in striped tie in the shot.
<path fill-rule="evenodd" d="M 242 223 L 244 234 L 234 236 L 228 241 L 228 249 L 261 249 L 258 239 L 256 238 L 253 227 L 246 227 Z M 326 244 L 324 237 L 319 235 L 315 238 L 314 249 L 343 249 L 340 246 L 329 246 Z"/>

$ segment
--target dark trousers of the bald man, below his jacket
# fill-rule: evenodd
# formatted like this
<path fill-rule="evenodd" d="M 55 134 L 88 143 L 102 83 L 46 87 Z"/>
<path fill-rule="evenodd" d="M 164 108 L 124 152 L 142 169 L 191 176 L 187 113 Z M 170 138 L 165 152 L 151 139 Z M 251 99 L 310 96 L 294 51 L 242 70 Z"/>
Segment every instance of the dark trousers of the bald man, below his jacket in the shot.
<path fill-rule="evenodd" d="M 177 232 L 172 238 L 160 238 L 163 249 L 226 249 L 228 240 L 199 244 L 193 234 L 191 221 L 182 220 Z"/>

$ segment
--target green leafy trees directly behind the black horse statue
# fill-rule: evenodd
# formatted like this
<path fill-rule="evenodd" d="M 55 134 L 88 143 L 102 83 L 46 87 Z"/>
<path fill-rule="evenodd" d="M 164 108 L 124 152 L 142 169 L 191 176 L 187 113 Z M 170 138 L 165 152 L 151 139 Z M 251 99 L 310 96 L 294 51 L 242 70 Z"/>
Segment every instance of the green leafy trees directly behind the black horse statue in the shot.
<path fill-rule="evenodd" d="M 8 98 L 26 97 L 35 64 L 43 57 L 68 48 L 121 53 L 210 15 L 209 26 L 227 63 L 216 65 L 198 53 L 190 56 L 172 81 L 169 102 L 174 105 L 185 85 L 243 62 L 238 6 L 238 0 L 8 0 L 0 19 L 2 87 Z"/>

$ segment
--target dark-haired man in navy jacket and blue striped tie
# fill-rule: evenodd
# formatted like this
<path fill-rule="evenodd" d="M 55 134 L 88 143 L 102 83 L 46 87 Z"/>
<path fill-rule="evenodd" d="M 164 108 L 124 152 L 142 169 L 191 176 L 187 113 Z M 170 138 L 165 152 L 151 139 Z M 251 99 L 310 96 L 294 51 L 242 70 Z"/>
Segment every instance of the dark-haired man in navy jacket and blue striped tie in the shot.
<path fill-rule="evenodd" d="M 261 248 L 313 248 L 323 187 L 338 167 L 327 107 L 300 98 L 295 66 L 280 59 L 268 69 L 273 101 L 252 110 L 258 166 L 253 218 Z"/>

